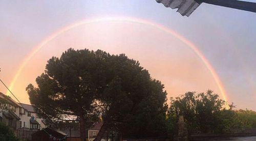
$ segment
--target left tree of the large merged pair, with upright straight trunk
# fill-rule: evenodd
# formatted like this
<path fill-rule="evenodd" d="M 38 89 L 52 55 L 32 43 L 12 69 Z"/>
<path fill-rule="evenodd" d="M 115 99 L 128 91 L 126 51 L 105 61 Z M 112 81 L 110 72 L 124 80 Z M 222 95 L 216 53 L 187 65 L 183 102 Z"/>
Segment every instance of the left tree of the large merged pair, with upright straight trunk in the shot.
<path fill-rule="evenodd" d="M 38 88 L 29 84 L 30 102 L 51 120 L 78 120 L 81 139 L 86 139 L 86 120 L 97 117 L 93 101 L 105 86 L 103 51 L 68 49 L 52 57 L 45 73 L 36 78 Z"/>

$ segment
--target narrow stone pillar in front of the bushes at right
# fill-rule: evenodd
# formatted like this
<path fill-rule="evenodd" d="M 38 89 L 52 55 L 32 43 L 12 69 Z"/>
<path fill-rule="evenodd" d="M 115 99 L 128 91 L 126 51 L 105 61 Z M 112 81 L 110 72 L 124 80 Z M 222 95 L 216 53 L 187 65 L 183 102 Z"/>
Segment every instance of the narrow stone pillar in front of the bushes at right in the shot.
<path fill-rule="evenodd" d="M 187 127 L 186 127 L 186 123 L 184 122 L 183 116 L 179 116 L 178 129 L 179 130 L 178 130 L 177 140 L 188 141 Z"/>

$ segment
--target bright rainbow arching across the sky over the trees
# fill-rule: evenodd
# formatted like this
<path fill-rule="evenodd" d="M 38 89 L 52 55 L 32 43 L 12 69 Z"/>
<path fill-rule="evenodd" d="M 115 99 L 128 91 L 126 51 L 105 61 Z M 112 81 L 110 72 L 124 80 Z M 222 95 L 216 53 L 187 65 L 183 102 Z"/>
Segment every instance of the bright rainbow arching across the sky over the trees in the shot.
<path fill-rule="evenodd" d="M 205 66 L 207 67 L 207 69 L 210 71 L 212 77 L 214 78 L 215 82 L 217 83 L 217 86 L 221 92 L 221 96 L 222 98 L 227 101 L 227 95 L 226 92 L 224 90 L 224 87 L 222 85 L 222 82 L 218 76 L 218 74 L 216 73 L 215 69 L 210 65 L 209 61 L 204 57 L 203 53 L 190 41 L 188 41 L 186 38 L 184 38 L 183 36 L 179 35 L 178 33 L 176 33 L 173 30 L 168 29 L 167 27 L 159 24 L 159 23 L 155 23 L 152 21 L 148 21 L 148 20 L 144 20 L 144 19 L 138 19 L 138 18 L 131 18 L 131 17 L 105 17 L 105 18 L 95 18 L 95 19 L 87 19 L 87 20 L 82 20 L 82 21 L 78 21 L 75 22 L 71 25 L 68 25 L 66 27 L 63 27 L 62 29 L 58 30 L 57 32 L 51 34 L 50 36 L 48 36 L 45 40 L 42 40 L 42 42 L 40 42 L 37 46 L 35 46 L 32 51 L 27 55 L 27 57 L 25 58 L 25 60 L 22 62 L 22 64 L 20 64 L 15 76 L 13 77 L 11 83 L 10 83 L 10 87 L 9 89 L 12 90 L 13 86 L 17 80 L 17 78 L 19 77 L 20 73 L 23 71 L 24 67 L 27 65 L 28 61 L 42 48 L 44 47 L 49 41 L 53 40 L 54 38 L 56 38 L 57 36 L 59 36 L 62 33 L 65 33 L 71 29 L 73 29 L 74 27 L 83 25 L 83 24 L 89 24 L 89 23 L 95 23 L 95 22 L 105 22 L 105 21 L 117 21 L 117 22 L 134 22 L 134 23 L 139 23 L 139 24 L 146 24 L 146 25 L 151 25 L 156 27 L 157 29 L 166 32 L 168 34 L 171 34 L 173 36 L 175 36 L 177 39 L 179 39 L 180 41 L 182 41 L 184 44 L 186 44 L 190 49 L 192 49 L 197 55 L 198 57 L 203 61 L 203 63 L 205 64 Z M 9 95 L 9 91 L 7 92 L 7 95 Z"/>

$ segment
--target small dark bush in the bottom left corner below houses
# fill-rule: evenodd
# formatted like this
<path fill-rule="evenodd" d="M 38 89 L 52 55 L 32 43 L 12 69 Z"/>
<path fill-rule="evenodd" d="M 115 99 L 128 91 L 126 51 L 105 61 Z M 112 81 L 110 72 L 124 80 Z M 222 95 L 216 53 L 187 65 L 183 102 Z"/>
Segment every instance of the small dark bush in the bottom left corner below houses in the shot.
<path fill-rule="evenodd" d="M 0 122 L 0 140 L 2 141 L 14 141 L 17 140 L 14 133 L 8 126 Z"/>

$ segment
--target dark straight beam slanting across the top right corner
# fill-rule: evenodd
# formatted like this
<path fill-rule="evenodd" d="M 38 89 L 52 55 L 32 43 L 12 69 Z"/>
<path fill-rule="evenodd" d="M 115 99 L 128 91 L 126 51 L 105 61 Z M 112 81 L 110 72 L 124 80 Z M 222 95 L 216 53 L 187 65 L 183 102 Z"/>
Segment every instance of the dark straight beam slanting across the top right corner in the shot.
<path fill-rule="evenodd" d="M 240 9 L 240 10 L 256 13 L 256 3 L 252 3 L 252 2 L 244 2 L 244 1 L 237 1 L 237 0 L 195 0 L 195 1 L 198 3 L 203 2 L 207 4 Z"/>

